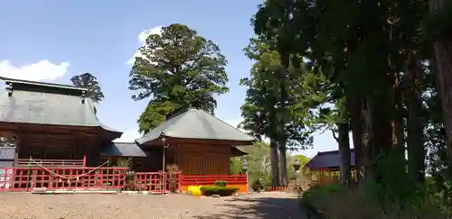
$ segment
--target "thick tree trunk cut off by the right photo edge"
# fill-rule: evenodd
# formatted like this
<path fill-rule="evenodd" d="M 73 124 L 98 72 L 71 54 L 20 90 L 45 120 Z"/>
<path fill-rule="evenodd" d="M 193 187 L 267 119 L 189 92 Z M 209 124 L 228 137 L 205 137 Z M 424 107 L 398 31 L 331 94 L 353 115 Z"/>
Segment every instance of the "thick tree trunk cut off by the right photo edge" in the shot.
<path fill-rule="evenodd" d="M 445 0 L 429 0 L 430 11 L 432 13 L 440 11 L 446 2 Z M 447 11 L 440 13 L 447 13 Z M 434 49 L 438 70 L 438 93 L 441 98 L 447 139 L 448 167 L 452 167 L 452 38 L 439 36 L 434 43 Z"/>

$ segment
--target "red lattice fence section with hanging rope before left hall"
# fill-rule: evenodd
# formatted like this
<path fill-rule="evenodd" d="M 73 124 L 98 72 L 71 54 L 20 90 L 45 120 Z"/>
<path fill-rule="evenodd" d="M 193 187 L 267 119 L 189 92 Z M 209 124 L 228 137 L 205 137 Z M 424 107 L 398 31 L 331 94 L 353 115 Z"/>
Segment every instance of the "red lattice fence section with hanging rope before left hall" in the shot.
<path fill-rule="evenodd" d="M 127 168 L 3 168 L 0 191 L 122 188 Z"/>

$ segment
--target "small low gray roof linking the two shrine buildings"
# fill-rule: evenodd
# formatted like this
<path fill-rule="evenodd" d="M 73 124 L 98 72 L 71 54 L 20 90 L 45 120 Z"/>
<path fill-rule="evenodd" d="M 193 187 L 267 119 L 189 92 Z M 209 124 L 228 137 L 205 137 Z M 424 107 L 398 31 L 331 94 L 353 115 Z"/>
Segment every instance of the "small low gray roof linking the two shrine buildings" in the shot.
<path fill-rule="evenodd" d="M 100 156 L 146 157 L 146 153 L 135 142 L 111 142 L 100 151 Z"/>

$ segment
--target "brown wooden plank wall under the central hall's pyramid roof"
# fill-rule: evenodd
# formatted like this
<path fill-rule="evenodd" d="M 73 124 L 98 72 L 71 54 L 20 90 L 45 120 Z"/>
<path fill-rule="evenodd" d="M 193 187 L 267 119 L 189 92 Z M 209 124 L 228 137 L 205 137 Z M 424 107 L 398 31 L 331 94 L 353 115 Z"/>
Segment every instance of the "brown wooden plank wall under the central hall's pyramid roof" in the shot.
<path fill-rule="evenodd" d="M 183 174 L 227 175 L 230 172 L 231 146 L 180 144 L 174 160 Z"/>

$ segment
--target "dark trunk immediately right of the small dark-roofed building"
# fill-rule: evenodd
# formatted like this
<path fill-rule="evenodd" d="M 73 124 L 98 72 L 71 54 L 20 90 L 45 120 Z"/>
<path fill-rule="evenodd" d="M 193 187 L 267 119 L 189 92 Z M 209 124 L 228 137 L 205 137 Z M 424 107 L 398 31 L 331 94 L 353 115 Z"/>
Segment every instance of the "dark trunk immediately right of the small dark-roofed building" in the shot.
<path fill-rule="evenodd" d="M 361 112 L 362 103 L 360 96 L 357 96 L 353 91 L 348 90 L 345 94 L 347 99 L 347 108 L 350 113 L 350 125 L 352 128 L 353 149 L 354 149 L 354 169 L 356 171 L 356 180 L 363 186 L 364 180 L 364 153 L 363 140 L 365 139 L 363 132 L 363 114 Z"/>

